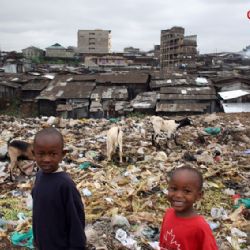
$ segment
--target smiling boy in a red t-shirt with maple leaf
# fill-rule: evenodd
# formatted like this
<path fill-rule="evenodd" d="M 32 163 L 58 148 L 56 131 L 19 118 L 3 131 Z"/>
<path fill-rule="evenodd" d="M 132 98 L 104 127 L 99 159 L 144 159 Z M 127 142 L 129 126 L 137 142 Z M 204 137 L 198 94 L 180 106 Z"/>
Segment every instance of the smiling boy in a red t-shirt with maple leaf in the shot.
<path fill-rule="evenodd" d="M 168 201 L 160 233 L 160 250 L 217 250 L 215 238 L 193 204 L 202 197 L 203 178 L 195 168 L 180 167 L 170 175 Z"/>

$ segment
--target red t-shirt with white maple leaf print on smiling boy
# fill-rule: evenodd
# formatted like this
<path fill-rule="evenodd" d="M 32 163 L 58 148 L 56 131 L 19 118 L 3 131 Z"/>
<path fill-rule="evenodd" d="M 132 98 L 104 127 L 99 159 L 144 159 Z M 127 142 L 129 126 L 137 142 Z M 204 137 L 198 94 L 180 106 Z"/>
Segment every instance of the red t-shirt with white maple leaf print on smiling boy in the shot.
<path fill-rule="evenodd" d="M 200 216 L 177 217 L 167 209 L 160 233 L 161 250 L 218 250 L 212 231 Z"/>

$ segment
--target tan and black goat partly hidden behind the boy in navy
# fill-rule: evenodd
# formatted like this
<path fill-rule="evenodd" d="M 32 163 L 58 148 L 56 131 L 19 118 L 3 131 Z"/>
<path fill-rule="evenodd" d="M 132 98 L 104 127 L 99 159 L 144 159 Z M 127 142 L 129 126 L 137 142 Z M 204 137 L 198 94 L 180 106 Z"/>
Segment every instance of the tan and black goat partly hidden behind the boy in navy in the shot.
<path fill-rule="evenodd" d="M 8 155 L 10 157 L 9 172 L 10 180 L 13 181 L 13 170 L 18 166 L 19 160 L 34 160 L 33 144 L 25 141 L 8 141 Z M 20 169 L 22 171 L 22 169 Z"/>

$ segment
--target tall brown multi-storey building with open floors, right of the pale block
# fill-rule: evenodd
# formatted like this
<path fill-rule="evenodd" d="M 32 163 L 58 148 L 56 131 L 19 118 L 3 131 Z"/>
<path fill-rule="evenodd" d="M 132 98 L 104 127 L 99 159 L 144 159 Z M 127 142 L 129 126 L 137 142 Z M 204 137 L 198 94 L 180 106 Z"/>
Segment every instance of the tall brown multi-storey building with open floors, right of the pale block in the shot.
<path fill-rule="evenodd" d="M 184 36 L 184 32 L 182 27 L 161 31 L 160 64 L 163 74 L 195 62 L 197 36 Z"/>

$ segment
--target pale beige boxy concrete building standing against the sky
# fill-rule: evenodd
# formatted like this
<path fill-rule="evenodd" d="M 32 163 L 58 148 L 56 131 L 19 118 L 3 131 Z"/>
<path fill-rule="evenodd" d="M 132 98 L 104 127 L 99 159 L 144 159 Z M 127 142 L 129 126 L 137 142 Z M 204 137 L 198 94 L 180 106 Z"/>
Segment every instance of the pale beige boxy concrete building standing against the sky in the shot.
<path fill-rule="evenodd" d="M 110 30 L 78 30 L 78 53 L 95 54 L 111 52 Z"/>

